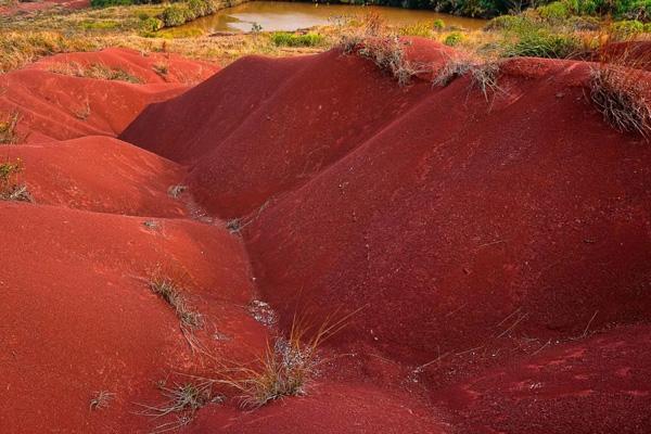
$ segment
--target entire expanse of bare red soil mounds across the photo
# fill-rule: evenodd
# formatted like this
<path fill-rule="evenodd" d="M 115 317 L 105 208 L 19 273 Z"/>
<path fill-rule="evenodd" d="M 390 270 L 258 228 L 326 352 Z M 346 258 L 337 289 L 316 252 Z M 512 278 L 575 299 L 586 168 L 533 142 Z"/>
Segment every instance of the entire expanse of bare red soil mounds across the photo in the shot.
<path fill-rule="evenodd" d="M 454 55 L 418 39 L 409 53 Z M 307 396 L 208 406 L 187 432 L 651 431 L 651 148 L 586 101 L 587 64 L 511 60 L 486 101 L 469 78 L 399 88 L 336 51 L 248 58 L 161 102 L 182 88 L 36 71 L 48 62 L 12 73 L 29 91 L 0 100 L 27 111 L 31 141 L 118 133 L 153 104 L 122 141 L 8 148 L 38 204 L 0 203 L 0 253 L 16 264 L 0 273 L 14 354 L 0 358 L 0 431 L 148 430 L 130 403 L 155 403 L 152 382 L 210 374 L 146 288 L 157 263 L 232 337 L 201 332 L 220 360 L 260 350 L 267 332 L 243 308 L 256 291 L 281 330 L 296 311 L 319 323 L 360 309 Z M 71 92 L 128 103 L 76 124 Z M 179 183 L 190 194 L 167 197 Z M 243 218 L 243 238 L 189 221 L 192 201 Z M 152 216 L 158 229 L 142 225 Z M 118 395 L 88 411 L 97 390 Z"/>

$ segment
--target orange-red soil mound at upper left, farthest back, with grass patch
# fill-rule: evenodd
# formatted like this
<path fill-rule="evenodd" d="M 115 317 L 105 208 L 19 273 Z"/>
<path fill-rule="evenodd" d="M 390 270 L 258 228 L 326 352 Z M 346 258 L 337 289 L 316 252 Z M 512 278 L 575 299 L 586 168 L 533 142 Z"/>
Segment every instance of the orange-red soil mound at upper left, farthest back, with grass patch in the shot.
<path fill-rule="evenodd" d="M 73 74 L 76 64 L 119 67 L 143 84 L 50 72 L 55 68 Z M 154 72 L 155 65 L 167 66 L 165 77 Z M 67 67 L 71 69 L 66 71 Z M 0 92 L 0 115 L 7 117 L 17 111 L 22 118 L 18 132 L 23 140 L 29 142 L 90 135 L 114 136 L 145 105 L 178 95 L 188 88 L 187 84 L 200 80 L 216 69 L 215 66 L 190 63 L 174 55 L 143 56 L 125 49 L 61 54 L 0 76 L 0 89 L 3 89 Z"/>

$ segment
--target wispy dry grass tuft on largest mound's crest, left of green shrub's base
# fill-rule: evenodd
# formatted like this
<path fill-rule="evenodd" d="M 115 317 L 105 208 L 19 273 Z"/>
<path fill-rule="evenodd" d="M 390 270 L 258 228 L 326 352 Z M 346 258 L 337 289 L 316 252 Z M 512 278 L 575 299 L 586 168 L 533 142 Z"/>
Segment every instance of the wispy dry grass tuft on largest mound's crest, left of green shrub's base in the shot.
<path fill-rule="evenodd" d="M 498 85 L 500 64 L 498 61 L 475 61 L 469 58 L 449 60 L 436 74 L 434 86 L 447 86 L 452 80 L 470 75 L 472 88 L 478 89 L 486 100 L 488 95 L 500 91 Z"/>

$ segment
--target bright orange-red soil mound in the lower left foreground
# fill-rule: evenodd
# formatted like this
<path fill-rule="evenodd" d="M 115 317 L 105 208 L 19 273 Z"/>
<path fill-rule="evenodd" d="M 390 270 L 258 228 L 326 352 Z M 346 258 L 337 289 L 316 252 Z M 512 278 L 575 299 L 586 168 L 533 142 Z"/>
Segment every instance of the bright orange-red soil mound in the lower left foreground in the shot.
<path fill-rule="evenodd" d="M 174 310 L 148 288 L 156 264 L 187 271 L 209 324 L 197 335 L 215 354 L 261 344 L 261 326 L 239 307 L 253 294 L 246 256 L 225 230 L 188 220 L 150 230 L 141 218 L 8 203 L 0 224 L 0 432 L 151 429 L 133 403 L 158 403 L 155 382 L 201 369 Z M 115 398 L 91 411 L 98 391 Z"/>

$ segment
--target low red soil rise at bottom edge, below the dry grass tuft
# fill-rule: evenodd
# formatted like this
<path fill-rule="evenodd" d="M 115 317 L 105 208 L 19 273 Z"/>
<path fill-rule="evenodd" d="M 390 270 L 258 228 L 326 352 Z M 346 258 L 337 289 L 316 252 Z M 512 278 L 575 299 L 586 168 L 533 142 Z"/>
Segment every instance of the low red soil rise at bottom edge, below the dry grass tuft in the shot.
<path fill-rule="evenodd" d="M 406 394 L 365 384 L 322 383 L 301 399 L 285 399 L 255 412 L 206 408 L 193 433 L 387 433 L 443 434 L 432 410 Z"/>

